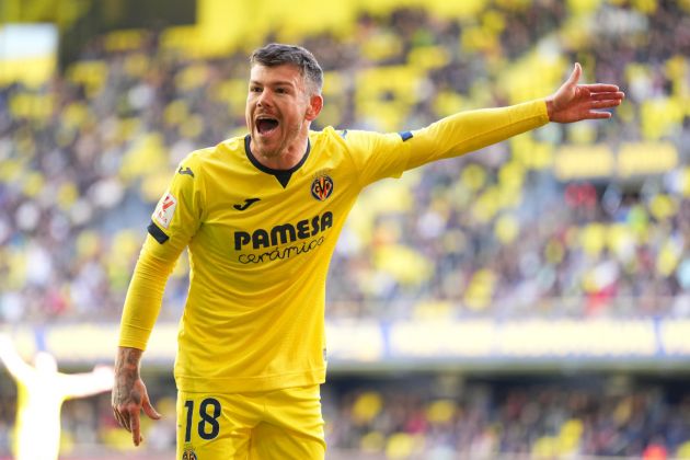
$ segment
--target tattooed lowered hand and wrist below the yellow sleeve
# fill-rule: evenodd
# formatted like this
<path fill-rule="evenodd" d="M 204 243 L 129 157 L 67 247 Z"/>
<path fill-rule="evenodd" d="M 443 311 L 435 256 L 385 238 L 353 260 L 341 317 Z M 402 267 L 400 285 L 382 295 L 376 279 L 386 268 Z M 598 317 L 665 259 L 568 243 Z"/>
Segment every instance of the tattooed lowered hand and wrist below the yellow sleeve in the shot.
<path fill-rule="evenodd" d="M 113 413 L 119 425 L 131 433 L 135 446 L 143 440 L 139 413 L 159 419 L 161 415 L 153 409 L 149 393 L 139 377 L 142 350 L 120 346 L 115 360 L 115 384 L 113 387 Z"/>

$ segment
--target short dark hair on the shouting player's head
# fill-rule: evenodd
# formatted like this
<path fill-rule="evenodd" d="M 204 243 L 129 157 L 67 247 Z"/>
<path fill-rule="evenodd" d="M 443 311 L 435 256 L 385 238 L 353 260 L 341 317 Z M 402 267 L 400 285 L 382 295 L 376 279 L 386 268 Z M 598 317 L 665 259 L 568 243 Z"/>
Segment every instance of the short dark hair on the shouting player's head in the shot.
<path fill-rule="evenodd" d="M 301 46 L 271 43 L 255 49 L 250 57 L 250 64 L 252 67 L 257 64 L 266 67 L 290 64 L 300 70 L 302 77 L 315 92 L 321 93 L 323 88 L 323 70 L 321 66 L 319 66 L 314 55 Z"/>

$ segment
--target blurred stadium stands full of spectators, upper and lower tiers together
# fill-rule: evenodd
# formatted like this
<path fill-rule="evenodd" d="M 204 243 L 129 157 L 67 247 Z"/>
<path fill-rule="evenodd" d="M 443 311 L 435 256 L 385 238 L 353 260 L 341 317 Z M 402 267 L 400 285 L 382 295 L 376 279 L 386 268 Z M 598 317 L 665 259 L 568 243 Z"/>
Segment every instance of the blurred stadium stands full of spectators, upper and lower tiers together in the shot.
<path fill-rule="evenodd" d="M 542 96 L 574 60 L 628 101 L 607 123 L 548 126 L 370 187 L 331 265 L 329 318 L 688 319 L 690 3 L 467 4 L 471 14 L 390 5 L 352 18 L 349 34 L 294 35 L 326 71 L 319 126 L 412 129 Z M 244 49 L 202 58 L 130 31 L 97 37 L 44 84 L 0 85 L 0 325 L 118 320 L 176 163 L 243 133 L 246 64 Z M 160 321 L 179 318 L 187 272 L 183 257 Z M 329 446 L 690 458 L 690 394 L 677 381 L 530 375 L 450 391 L 441 377 L 338 375 L 324 392 Z M 174 393 L 159 378 L 149 387 L 161 410 Z M 13 391 L 3 376 L 0 457 Z M 110 411 L 106 398 L 66 403 L 66 451 L 125 449 Z M 152 425 L 148 448 L 166 451 L 173 433 L 170 421 Z"/>

